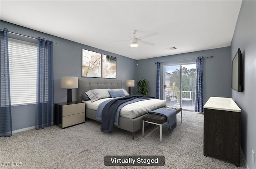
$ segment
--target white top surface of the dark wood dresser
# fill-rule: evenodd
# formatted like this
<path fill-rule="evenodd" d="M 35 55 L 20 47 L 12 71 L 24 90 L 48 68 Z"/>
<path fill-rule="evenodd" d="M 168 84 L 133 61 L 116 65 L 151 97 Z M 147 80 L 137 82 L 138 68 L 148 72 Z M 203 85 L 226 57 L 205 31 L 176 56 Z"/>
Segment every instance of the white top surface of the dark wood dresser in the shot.
<path fill-rule="evenodd" d="M 204 104 L 204 108 L 241 112 L 241 109 L 236 105 L 232 98 L 225 97 L 210 97 L 209 100 Z"/>

